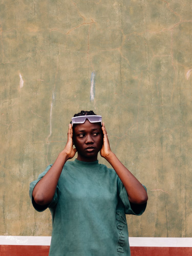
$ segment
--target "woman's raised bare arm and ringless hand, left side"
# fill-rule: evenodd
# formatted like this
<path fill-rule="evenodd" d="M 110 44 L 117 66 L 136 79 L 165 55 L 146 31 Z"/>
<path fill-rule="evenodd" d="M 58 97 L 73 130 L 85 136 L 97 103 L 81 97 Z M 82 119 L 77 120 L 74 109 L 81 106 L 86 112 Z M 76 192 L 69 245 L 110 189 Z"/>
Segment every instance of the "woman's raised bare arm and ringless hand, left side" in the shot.
<path fill-rule="evenodd" d="M 52 201 L 63 166 L 65 165 L 66 161 L 73 158 L 77 152 L 76 148 L 73 148 L 72 137 L 72 125 L 69 124 L 65 148 L 59 153 L 55 163 L 52 165 L 49 171 L 34 187 L 32 195 L 37 204 L 47 205 Z"/>

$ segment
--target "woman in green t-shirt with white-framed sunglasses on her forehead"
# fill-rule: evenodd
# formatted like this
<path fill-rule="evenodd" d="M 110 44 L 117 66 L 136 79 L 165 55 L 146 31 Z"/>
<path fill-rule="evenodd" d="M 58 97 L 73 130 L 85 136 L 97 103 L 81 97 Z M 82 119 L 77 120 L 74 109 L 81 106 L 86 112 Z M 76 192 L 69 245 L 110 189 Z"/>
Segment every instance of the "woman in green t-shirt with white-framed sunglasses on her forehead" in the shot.
<path fill-rule="evenodd" d="M 111 151 L 101 116 L 74 115 L 67 136 L 55 163 L 30 184 L 35 209 L 52 214 L 49 256 L 130 255 L 125 214 L 144 212 L 144 186 Z M 113 169 L 98 163 L 99 151 Z"/>

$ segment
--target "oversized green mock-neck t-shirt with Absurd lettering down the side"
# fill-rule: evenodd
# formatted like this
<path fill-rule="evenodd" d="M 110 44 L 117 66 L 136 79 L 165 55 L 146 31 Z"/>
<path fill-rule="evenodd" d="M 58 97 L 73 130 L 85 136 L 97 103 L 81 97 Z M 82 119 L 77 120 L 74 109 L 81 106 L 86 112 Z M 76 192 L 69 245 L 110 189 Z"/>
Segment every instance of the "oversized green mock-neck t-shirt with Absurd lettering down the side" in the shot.
<path fill-rule="evenodd" d="M 37 182 L 30 184 L 30 198 Z M 32 200 L 38 211 L 38 205 Z M 61 172 L 54 198 L 52 238 L 49 256 L 130 256 L 125 214 L 131 208 L 127 192 L 116 172 L 95 162 L 67 161 Z"/>

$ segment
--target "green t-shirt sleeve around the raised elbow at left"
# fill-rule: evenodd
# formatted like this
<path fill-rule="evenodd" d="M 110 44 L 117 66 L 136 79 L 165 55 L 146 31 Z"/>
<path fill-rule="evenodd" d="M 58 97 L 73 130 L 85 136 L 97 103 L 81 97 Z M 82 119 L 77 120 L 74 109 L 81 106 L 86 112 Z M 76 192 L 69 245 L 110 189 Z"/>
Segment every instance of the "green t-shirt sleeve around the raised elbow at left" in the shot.
<path fill-rule="evenodd" d="M 58 187 L 58 185 L 57 185 L 56 190 L 55 190 L 55 194 L 54 194 L 54 197 L 53 197 L 52 201 L 51 201 L 49 204 L 45 205 L 45 206 L 41 206 L 41 205 L 37 204 L 37 203 L 34 201 L 34 198 L 33 198 L 33 196 L 32 196 L 34 187 L 35 187 L 36 184 L 39 182 L 39 180 L 42 179 L 42 177 L 44 177 L 44 175 L 48 172 L 48 170 L 51 168 L 51 166 L 52 166 L 52 165 L 47 166 L 46 170 L 45 170 L 44 172 L 42 172 L 42 173 L 39 175 L 38 179 L 32 181 L 32 182 L 30 183 L 30 186 L 29 186 L 29 197 L 30 197 L 30 199 L 31 199 L 31 202 L 32 202 L 32 204 L 33 204 L 33 207 L 35 208 L 35 210 L 37 210 L 37 211 L 39 211 L 39 212 L 42 212 L 42 211 L 44 211 L 44 210 L 47 209 L 47 208 L 52 208 L 52 207 L 54 207 L 54 206 L 56 205 L 57 200 L 58 200 L 58 197 L 59 197 L 59 195 L 60 195 L 60 193 L 61 193 L 61 191 L 60 191 L 60 189 L 59 189 L 59 187 Z"/>

